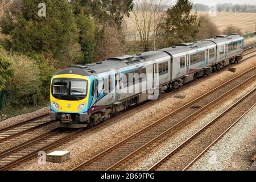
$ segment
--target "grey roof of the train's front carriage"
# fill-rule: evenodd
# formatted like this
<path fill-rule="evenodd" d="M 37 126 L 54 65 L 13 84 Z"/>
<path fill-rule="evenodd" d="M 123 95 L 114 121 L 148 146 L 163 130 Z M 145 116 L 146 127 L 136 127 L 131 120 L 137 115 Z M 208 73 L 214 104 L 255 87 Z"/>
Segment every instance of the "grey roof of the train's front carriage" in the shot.
<path fill-rule="evenodd" d="M 118 57 L 111 57 L 108 60 L 100 61 L 97 63 L 86 65 L 73 65 L 72 67 L 63 69 L 57 72 L 55 75 L 62 74 L 76 74 L 82 76 L 91 76 L 97 73 L 109 72 L 111 69 L 119 69 L 129 67 L 130 65 L 136 65 L 144 63 L 146 61 L 152 61 L 161 57 L 169 56 L 165 52 L 149 51 L 143 52 L 138 55 L 124 55 Z"/>

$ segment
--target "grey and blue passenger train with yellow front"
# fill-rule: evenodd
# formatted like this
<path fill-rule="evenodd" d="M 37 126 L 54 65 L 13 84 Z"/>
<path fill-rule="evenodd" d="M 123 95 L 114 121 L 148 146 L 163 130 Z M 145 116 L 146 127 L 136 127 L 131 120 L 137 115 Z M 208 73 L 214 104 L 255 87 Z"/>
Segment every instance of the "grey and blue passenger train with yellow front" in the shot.
<path fill-rule="evenodd" d="M 243 37 L 193 43 L 72 65 L 52 76 L 49 116 L 59 127 L 93 127 L 196 78 L 242 60 Z"/>

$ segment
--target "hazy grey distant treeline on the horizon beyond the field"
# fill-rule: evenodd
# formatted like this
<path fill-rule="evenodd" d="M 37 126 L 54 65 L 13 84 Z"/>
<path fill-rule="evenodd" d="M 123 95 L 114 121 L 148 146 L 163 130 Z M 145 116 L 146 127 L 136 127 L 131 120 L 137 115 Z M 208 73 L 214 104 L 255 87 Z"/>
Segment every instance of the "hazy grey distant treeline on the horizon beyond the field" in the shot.
<path fill-rule="evenodd" d="M 210 5 L 209 5 L 210 6 Z M 207 5 L 203 5 L 200 3 L 195 3 L 193 5 L 194 11 L 209 11 L 210 7 Z M 249 5 L 249 4 L 235 4 L 232 3 L 218 3 L 216 5 L 216 10 L 218 12 L 233 12 L 233 13 L 255 13 L 256 12 L 256 5 Z"/>

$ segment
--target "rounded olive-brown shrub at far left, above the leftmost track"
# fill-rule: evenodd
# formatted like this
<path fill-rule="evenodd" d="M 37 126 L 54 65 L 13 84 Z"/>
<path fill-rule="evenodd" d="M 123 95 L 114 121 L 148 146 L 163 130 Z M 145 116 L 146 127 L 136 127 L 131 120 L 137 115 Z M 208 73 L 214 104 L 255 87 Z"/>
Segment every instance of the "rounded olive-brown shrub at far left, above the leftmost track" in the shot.
<path fill-rule="evenodd" d="M 40 94 L 40 70 L 28 57 L 11 55 L 15 75 L 7 82 L 6 90 L 9 104 L 12 107 L 37 105 Z"/>

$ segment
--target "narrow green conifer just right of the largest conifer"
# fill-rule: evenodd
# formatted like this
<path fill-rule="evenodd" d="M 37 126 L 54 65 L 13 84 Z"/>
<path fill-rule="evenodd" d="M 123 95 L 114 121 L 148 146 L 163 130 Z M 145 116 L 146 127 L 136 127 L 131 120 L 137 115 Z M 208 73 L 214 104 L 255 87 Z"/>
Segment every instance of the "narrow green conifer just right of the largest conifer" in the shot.
<path fill-rule="evenodd" d="M 79 43 L 83 54 L 81 64 L 88 64 L 94 61 L 96 25 L 88 15 L 80 13 L 76 18 L 79 28 Z"/>

